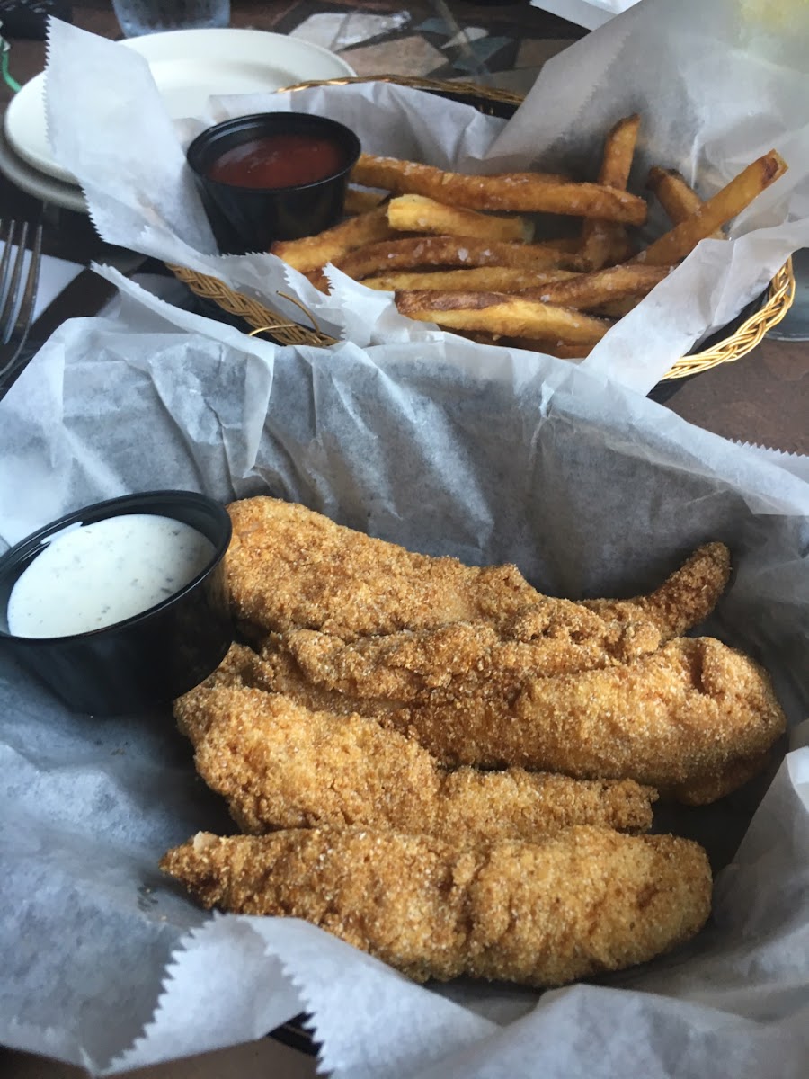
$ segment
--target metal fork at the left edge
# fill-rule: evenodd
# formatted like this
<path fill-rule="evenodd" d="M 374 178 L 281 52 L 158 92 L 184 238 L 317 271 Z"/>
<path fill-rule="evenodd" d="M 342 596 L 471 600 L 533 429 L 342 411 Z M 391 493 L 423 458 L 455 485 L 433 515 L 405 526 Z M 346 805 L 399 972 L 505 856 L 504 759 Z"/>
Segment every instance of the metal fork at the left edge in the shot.
<path fill-rule="evenodd" d="M 0 382 L 23 351 L 33 322 L 39 268 L 42 259 L 42 226 L 29 230 L 27 221 L 8 222 L 8 232 L 0 219 L 0 243 L 4 243 L 0 259 Z M 32 242 L 28 246 L 28 233 Z M 26 258 L 28 271 L 25 271 Z"/>

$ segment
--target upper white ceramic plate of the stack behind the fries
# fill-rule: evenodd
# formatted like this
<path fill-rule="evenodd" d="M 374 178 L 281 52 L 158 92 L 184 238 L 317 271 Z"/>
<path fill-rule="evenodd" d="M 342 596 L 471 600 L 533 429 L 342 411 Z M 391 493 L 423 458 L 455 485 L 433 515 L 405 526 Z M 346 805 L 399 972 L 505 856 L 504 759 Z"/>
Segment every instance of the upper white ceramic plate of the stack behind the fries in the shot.
<path fill-rule="evenodd" d="M 214 94 L 255 94 L 308 79 L 355 73 L 345 60 L 319 45 L 263 30 L 169 30 L 120 44 L 149 60 L 173 120 L 193 117 Z M 44 86 L 43 72 L 14 96 L 5 112 L 5 135 L 33 168 L 71 182 L 71 174 L 51 154 Z"/>

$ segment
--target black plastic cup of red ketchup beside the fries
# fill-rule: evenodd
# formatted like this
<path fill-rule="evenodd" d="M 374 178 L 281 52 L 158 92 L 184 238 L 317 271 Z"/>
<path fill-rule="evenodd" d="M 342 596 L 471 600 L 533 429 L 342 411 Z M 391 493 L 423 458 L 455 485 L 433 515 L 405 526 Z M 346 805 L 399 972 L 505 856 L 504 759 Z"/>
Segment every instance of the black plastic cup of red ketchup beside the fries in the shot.
<path fill-rule="evenodd" d="M 187 160 L 223 255 L 266 251 L 337 224 L 359 139 L 306 112 L 261 112 L 208 127 Z"/>

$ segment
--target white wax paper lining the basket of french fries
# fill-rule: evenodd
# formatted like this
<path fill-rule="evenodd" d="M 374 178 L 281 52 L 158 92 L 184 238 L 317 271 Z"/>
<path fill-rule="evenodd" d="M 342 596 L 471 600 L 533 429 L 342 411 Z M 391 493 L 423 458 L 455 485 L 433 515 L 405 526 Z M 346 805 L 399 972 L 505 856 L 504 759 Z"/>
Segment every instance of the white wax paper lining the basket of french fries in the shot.
<path fill-rule="evenodd" d="M 271 255 L 215 254 L 184 164 L 204 127 L 264 110 L 325 113 L 354 127 L 371 153 L 462 172 L 563 168 L 594 178 L 606 132 L 642 115 L 630 188 L 650 165 L 678 168 L 703 197 L 770 149 L 790 168 L 732 223 L 733 243 L 704 241 L 584 361 L 600 378 L 648 390 L 696 342 L 727 326 L 767 288 L 790 254 L 809 244 L 809 5 L 782 0 L 642 0 L 547 63 L 510 121 L 471 106 L 384 83 L 294 94 L 211 98 L 173 126 L 142 57 L 59 21 L 50 23 L 49 134 L 78 177 L 100 234 L 111 243 L 220 277 L 301 320 L 366 346 L 444 334 L 398 314 L 337 270 L 318 292 Z M 645 238 L 669 224 L 650 208 Z"/>

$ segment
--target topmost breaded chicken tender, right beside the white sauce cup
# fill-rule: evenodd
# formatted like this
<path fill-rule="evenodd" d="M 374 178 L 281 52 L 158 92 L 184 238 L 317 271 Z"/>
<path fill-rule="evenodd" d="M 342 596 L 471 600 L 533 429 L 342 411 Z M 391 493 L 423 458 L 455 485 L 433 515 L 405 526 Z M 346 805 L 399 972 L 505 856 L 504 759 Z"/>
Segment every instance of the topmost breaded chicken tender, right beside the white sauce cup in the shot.
<path fill-rule="evenodd" d="M 257 497 L 228 508 L 234 613 L 268 630 L 351 640 L 511 615 L 538 596 L 513 565 L 413 554 L 293 503 Z"/>

